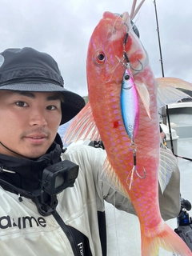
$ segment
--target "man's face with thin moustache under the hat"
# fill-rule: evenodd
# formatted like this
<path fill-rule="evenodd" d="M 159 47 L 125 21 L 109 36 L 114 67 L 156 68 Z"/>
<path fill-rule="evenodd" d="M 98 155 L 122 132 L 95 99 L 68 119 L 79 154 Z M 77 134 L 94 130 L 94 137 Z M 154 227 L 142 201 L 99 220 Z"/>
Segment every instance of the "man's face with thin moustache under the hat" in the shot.
<path fill-rule="evenodd" d="M 0 142 L 26 158 L 46 153 L 62 119 L 55 93 L 0 91 Z M 0 154 L 19 157 L 0 144 Z"/>

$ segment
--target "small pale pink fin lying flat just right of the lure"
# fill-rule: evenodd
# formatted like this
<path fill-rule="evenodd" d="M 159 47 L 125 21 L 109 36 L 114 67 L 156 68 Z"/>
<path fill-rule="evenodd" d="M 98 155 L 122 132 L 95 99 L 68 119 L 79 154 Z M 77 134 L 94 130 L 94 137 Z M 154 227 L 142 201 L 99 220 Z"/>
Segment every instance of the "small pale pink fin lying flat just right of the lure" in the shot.
<path fill-rule="evenodd" d="M 142 99 L 142 103 L 145 106 L 146 113 L 148 114 L 148 116 L 150 118 L 150 94 L 147 90 L 147 87 L 146 87 L 145 83 L 142 83 L 142 82 L 135 82 L 135 84 L 136 84 L 138 94 L 139 94 L 140 98 Z"/>

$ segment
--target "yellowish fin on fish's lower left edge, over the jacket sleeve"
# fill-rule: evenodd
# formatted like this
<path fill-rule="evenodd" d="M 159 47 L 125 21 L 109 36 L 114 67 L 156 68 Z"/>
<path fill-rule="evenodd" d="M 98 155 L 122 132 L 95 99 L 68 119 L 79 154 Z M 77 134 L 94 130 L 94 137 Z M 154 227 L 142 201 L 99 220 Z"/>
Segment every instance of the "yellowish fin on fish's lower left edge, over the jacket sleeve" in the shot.
<path fill-rule="evenodd" d="M 119 181 L 119 178 L 115 173 L 113 167 L 110 165 L 110 162 L 107 157 L 102 166 L 101 179 L 103 182 L 106 182 L 107 184 L 109 184 L 115 191 L 118 191 L 118 193 L 122 194 L 126 198 L 129 198 L 125 188 L 122 186 L 122 183 Z"/>

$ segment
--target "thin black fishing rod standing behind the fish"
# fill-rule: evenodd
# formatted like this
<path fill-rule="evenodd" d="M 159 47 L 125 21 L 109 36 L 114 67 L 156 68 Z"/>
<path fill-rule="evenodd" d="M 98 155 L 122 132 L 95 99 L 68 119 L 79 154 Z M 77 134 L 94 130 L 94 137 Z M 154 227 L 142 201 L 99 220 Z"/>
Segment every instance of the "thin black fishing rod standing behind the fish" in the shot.
<path fill-rule="evenodd" d="M 160 54 L 160 62 L 161 62 L 161 67 L 162 67 L 162 78 L 164 78 L 164 69 L 163 69 L 163 62 L 162 62 L 162 47 L 161 47 L 161 40 L 160 40 L 160 33 L 159 33 L 159 26 L 158 26 L 158 11 L 157 11 L 157 6 L 156 6 L 156 1 L 154 0 L 154 11 L 155 11 L 155 18 L 156 18 L 156 25 L 157 25 L 157 32 L 158 32 L 158 48 L 159 48 L 159 54 Z M 171 151 L 174 154 L 174 144 L 173 144 L 173 138 L 172 138 L 172 132 L 171 132 L 171 127 L 170 127 L 170 114 L 169 114 L 169 108 L 168 105 L 166 107 L 162 107 L 162 122 L 166 124 L 166 117 L 168 119 L 168 127 L 169 127 L 169 133 L 170 133 L 170 147 Z M 185 160 L 192 161 L 191 158 L 185 158 L 178 156 L 177 154 L 174 154 L 175 157 L 177 158 L 183 158 Z"/>

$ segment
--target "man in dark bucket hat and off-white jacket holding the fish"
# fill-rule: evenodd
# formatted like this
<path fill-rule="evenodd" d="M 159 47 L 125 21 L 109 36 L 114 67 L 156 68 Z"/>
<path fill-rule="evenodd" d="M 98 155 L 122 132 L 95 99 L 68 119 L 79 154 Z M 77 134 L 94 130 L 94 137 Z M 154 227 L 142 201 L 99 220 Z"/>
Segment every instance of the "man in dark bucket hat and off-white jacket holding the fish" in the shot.
<path fill-rule="evenodd" d="M 106 255 L 103 198 L 135 214 L 131 202 L 99 178 L 104 150 L 62 147 L 58 126 L 84 105 L 83 98 L 63 87 L 50 55 L 32 48 L 0 54 L 3 256 Z M 163 218 L 178 215 L 179 194 L 175 170 L 159 199 Z"/>

